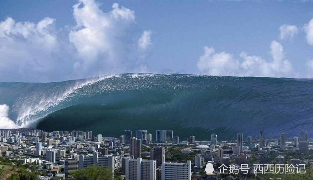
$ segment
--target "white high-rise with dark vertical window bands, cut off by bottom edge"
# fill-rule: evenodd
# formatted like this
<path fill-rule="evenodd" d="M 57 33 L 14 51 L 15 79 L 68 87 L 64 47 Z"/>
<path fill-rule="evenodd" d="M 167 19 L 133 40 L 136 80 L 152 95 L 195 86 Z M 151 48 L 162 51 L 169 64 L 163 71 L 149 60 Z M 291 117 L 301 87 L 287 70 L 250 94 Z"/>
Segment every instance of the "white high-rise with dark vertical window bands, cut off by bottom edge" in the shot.
<path fill-rule="evenodd" d="M 125 159 L 126 180 L 156 180 L 156 161 L 147 159 Z"/>

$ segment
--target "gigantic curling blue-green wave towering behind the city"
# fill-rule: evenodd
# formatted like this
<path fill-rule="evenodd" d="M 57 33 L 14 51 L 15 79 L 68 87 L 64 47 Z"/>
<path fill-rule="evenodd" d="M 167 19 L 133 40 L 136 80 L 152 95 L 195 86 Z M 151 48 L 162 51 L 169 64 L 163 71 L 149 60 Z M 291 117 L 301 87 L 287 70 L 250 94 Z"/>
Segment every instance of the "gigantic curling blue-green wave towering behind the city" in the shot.
<path fill-rule="evenodd" d="M 173 130 L 187 139 L 313 136 L 313 79 L 121 74 L 54 83 L 0 83 L 0 104 L 19 127 Z M 133 132 L 135 134 L 135 132 Z"/>

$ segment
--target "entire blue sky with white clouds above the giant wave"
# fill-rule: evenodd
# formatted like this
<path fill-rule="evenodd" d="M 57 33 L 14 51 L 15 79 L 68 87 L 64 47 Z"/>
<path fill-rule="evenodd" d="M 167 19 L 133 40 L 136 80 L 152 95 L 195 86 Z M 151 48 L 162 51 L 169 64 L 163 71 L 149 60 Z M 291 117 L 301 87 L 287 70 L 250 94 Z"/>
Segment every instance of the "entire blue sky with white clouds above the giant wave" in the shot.
<path fill-rule="evenodd" d="M 0 82 L 313 78 L 313 1 L 0 1 Z"/>

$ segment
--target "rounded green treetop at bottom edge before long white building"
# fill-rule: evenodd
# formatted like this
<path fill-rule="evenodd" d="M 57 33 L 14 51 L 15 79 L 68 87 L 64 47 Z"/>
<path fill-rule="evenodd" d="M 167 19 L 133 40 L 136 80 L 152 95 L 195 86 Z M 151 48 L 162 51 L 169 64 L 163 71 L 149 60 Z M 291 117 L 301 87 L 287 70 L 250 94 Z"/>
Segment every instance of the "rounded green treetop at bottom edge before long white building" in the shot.
<path fill-rule="evenodd" d="M 93 165 L 77 171 L 73 171 L 74 180 L 113 180 L 111 169 L 107 166 Z"/>

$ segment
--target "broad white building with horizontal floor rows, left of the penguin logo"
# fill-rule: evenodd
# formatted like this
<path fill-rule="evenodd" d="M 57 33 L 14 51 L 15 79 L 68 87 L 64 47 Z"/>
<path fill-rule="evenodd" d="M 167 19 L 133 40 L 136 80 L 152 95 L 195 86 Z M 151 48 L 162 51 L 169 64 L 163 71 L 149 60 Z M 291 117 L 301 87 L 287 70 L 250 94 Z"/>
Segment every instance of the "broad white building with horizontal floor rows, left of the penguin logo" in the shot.
<path fill-rule="evenodd" d="M 187 163 L 163 163 L 162 180 L 191 180 L 191 161 Z"/>

